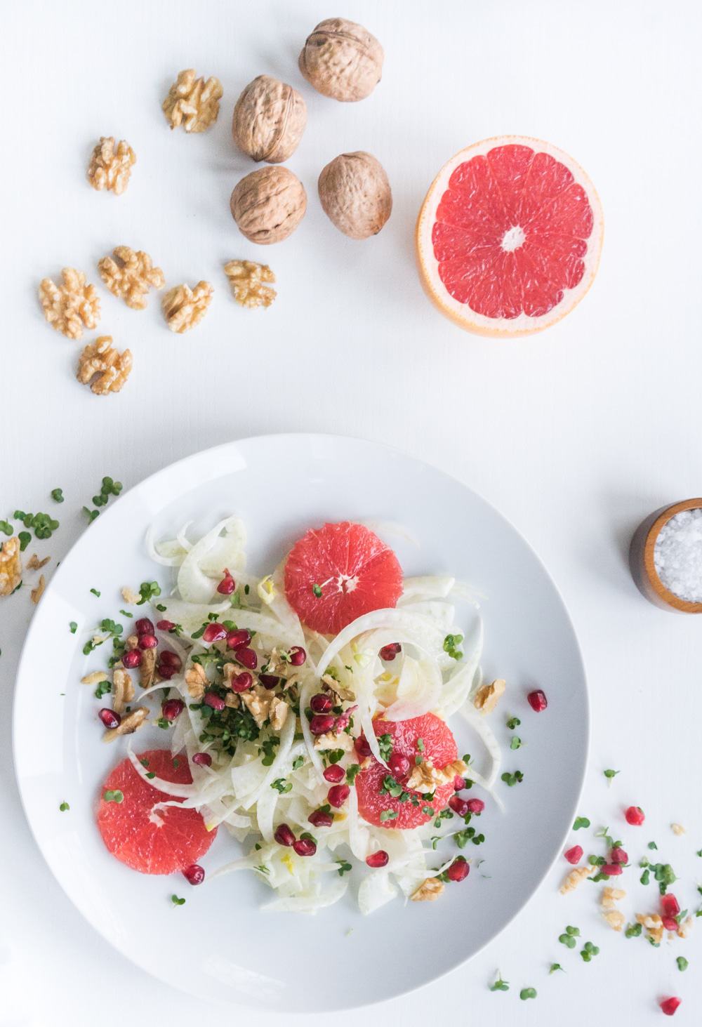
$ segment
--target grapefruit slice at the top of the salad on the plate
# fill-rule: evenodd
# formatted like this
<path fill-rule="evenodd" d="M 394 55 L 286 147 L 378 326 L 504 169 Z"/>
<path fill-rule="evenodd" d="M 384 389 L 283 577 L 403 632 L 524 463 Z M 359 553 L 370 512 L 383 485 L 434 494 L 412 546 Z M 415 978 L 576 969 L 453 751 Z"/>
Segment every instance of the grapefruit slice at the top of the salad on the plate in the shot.
<path fill-rule="evenodd" d="M 288 603 L 304 624 L 322 635 L 336 635 L 371 610 L 394 607 L 401 594 L 397 557 L 361 524 L 311 529 L 285 564 Z"/>

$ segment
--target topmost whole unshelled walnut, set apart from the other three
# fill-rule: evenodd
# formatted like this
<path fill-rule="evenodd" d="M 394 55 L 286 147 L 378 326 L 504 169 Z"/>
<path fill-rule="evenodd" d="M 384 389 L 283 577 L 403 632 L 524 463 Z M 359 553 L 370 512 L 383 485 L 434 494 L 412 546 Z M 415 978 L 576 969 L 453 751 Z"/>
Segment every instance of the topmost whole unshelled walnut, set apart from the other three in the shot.
<path fill-rule="evenodd" d="M 333 100 L 364 100 L 383 72 L 383 47 L 367 29 L 327 17 L 307 37 L 298 64 L 318 92 Z"/>

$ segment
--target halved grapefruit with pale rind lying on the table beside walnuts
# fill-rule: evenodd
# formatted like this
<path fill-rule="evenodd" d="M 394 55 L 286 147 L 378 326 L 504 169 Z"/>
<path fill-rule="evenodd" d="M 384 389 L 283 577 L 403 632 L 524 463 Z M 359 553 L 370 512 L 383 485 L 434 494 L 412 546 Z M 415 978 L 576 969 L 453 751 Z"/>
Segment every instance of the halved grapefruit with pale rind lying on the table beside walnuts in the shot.
<path fill-rule="evenodd" d="M 439 310 L 479 335 L 555 324 L 592 284 L 602 211 L 585 172 L 549 143 L 520 136 L 461 150 L 420 211 L 420 277 Z"/>

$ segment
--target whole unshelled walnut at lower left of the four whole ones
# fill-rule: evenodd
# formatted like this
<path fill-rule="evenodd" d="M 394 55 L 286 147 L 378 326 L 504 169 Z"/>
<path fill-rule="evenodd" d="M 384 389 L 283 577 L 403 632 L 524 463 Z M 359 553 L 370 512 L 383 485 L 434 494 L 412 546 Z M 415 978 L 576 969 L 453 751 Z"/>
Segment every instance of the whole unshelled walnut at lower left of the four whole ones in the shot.
<path fill-rule="evenodd" d="M 292 172 L 271 165 L 242 179 L 230 205 L 239 231 L 251 242 L 267 245 L 295 231 L 307 210 L 307 194 Z"/>

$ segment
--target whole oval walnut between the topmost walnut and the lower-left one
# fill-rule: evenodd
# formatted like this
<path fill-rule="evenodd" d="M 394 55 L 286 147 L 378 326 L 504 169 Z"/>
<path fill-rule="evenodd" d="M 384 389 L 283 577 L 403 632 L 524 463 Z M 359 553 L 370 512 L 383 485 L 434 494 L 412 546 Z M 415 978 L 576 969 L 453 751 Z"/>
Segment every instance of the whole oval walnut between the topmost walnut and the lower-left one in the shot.
<path fill-rule="evenodd" d="M 295 153 L 307 124 L 307 106 L 291 85 L 259 75 L 236 102 L 232 136 L 254 160 L 279 164 Z"/>

